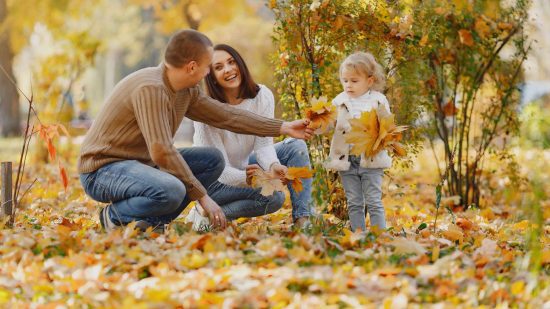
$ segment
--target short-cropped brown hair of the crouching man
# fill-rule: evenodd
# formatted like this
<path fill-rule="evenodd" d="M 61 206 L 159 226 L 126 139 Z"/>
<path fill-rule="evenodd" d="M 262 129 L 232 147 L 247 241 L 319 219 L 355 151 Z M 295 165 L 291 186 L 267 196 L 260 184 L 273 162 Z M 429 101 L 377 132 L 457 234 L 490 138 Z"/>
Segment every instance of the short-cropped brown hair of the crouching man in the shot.
<path fill-rule="evenodd" d="M 206 35 L 191 29 L 181 30 L 170 38 L 164 61 L 179 68 L 191 61 L 200 61 L 208 47 L 212 47 L 212 41 Z"/>

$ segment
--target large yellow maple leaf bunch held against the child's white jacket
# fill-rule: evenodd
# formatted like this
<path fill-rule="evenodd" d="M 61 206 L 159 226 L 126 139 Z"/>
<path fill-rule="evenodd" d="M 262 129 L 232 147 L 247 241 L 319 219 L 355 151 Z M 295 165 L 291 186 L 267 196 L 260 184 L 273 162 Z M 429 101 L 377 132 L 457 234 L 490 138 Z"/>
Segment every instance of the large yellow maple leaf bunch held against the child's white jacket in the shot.
<path fill-rule="evenodd" d="M 363 112 L 361 117 L 350 119 L 351 131 L 346 134 L 346 143 L 352 144 L 351 154 L 371 157 L 383 149 L 392 150 L 398 156 L 406 155 L 400 143 L 407 126 L 395 124 L 395 116 L 383 104 L 377 110 Z"/>

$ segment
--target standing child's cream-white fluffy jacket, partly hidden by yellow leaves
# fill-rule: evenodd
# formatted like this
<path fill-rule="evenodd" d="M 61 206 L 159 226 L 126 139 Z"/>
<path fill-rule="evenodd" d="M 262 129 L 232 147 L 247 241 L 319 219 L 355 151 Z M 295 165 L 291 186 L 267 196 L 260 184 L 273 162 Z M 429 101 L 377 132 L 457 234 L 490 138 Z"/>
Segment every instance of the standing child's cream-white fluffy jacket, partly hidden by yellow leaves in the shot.
<path fill-rule="evenodd" d="M 351 130 L 349 120 L 359 118 L 362 112 L 378 109 L 380 105 L 384 105 L 390 111 L 390 105 L 385 95 L 374 90 L 367 91 L 358 98 L 350 98 L 348 94 L 342 92 L 332 100 L 332 104 L 336 106 L 338 117 L 330 144 L 329 159 L 325 163 L 325 167 L 337 171 L 347 171 L 350 168 L 348 161 L 350 145 L 346 143 L 345 135 Z M 391 164 L 392 159 L 385 149 L 372 157 L 361 155 L 360 165 L 362 167 L 389 168 Z"/>

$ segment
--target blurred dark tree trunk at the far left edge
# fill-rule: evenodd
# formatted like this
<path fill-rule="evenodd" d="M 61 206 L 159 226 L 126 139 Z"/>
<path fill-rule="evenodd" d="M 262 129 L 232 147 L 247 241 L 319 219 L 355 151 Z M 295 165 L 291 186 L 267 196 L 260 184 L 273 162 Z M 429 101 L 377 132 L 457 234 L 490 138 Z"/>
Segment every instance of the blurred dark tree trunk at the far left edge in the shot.
<path fill-rule="evenodd" d="M 0 0 L 0 25 L 6 21 L 8 12 L 6 0 Z M 19 95 L 16 86 L 10 81 L 15 81 L 12 71 L 13 52 L 11 51 L 9 30 L 0 32 L 0 136 L 15 136 L 21 133 L 19 126 L 21 116 L 19 114 Z M 7 73 L 7 76 L 6 76 Z"/>

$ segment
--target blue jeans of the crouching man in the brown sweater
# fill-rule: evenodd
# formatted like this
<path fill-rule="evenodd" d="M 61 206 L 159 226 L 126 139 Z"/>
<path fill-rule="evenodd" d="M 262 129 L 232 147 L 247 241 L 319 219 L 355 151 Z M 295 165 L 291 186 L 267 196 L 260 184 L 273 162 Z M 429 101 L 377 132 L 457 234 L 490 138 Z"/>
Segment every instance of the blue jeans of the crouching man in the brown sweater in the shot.
<path fill-rule="evenodd" d="M 208 188 L 220 177 L 225 162 L 213 147 L 178 149 L 201 184 Z M 109 216 L 115 224 L 145 220 L 152 225 L 177 218 L 190 202 L 183 183 L 175 176 L 135 160 L 118 161 L 80 175 L 91 198 L 111 203 Z"/>

